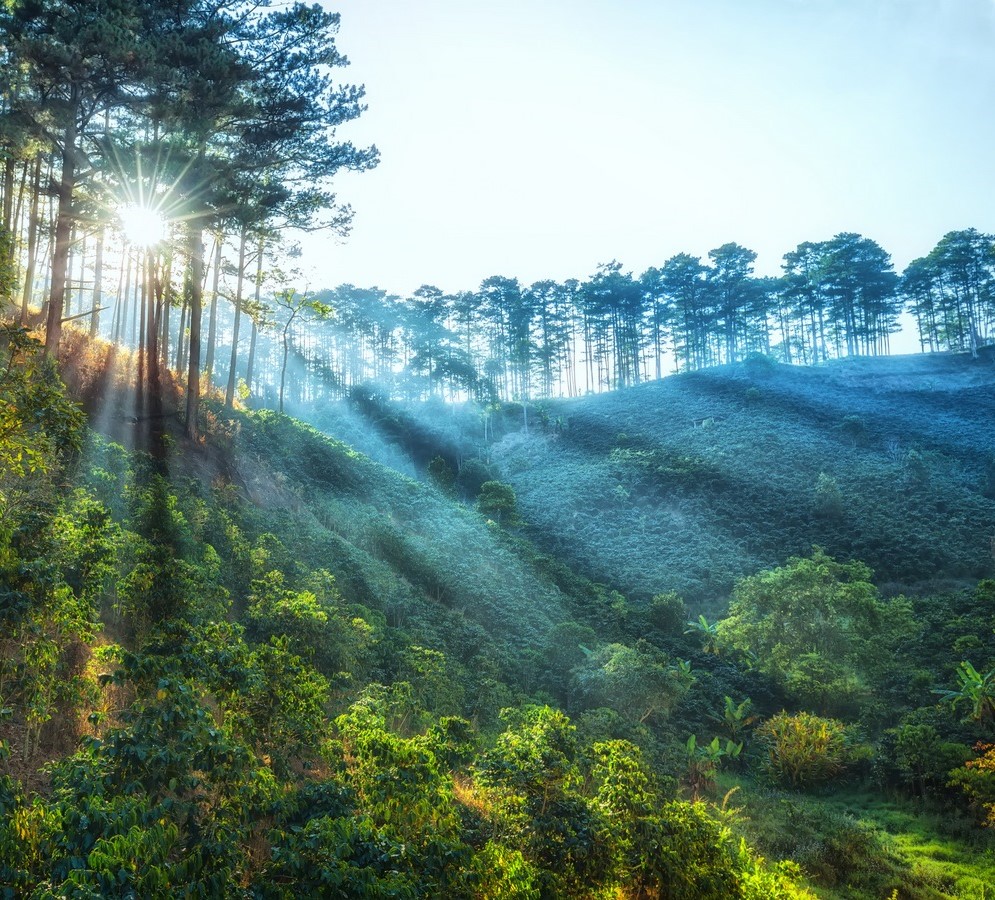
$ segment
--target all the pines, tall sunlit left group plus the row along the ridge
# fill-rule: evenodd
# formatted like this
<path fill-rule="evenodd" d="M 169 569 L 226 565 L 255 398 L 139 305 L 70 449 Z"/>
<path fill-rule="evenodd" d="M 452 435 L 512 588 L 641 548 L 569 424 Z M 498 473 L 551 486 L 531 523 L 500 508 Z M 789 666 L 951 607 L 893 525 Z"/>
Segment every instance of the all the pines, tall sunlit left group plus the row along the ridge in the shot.
<path fill-rule="evenodd" d="M 562 282 L 300 294 L 278 265 L 285 234 L 347 231 L 330 179 L 377 153 L 337 133 L 363 110 L 362 89 L 328 74 L 346 62 L 338 16 L 238 9 L 64 0 L 0 13 L 3 301 L 22 323 L 46 323 L 52 352 L 71 322 L 135 349 L 150 385 L 174 370 L 191 434 L 205 376 L 229 406 L 240 388 L 280 407 L 369 382 L 395 397 L 527 401 L 751 353 L 886 353 L 905 312 L 923 350 L 974 353 L 991 339 L 995 250 L 973 228 L 901 275 L 875 241 L 841 233 L 799 244 L 776 278 L 727 243 L 638 276 L 613 261 Z M 135 204 L 166 217 L 162 240 L 122 232 Z"/>

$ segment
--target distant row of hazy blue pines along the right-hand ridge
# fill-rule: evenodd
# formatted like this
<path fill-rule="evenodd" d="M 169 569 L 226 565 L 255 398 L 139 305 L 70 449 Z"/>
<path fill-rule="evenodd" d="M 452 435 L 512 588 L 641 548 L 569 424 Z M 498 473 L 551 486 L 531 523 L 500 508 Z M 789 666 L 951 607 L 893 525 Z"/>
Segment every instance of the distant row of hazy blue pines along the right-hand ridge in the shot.
<path fill-rule="evenodd" d="M 341 285 L 319 293 L 335 316 L 306 355 L 345 388 L 521 401 L 751 353 L 803 364 L 887 353 L 904 311 L 923 350 L 976 353 L 995 325 L 995 238 L 975 229 L 945 235 L 902 276 L 877 243 L 850 233 L 800 244 L 779 278 L 756 276 L 756 253 L 739 244 L 708 257 L 679 253 L 638 277 L 611 262 L 585 281 L 493 276 L 453 294 L 423 285 L 408 298 Z"/>

